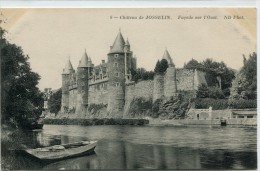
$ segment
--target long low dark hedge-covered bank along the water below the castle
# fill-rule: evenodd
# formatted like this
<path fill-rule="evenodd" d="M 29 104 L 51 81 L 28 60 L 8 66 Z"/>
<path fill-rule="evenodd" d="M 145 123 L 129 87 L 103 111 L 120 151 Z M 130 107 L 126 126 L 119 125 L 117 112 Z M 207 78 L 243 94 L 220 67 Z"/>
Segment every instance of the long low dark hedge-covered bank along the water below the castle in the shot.
<path fill-rule="evenodd" d="M 149 124 L 146 119 L 119 119 L 119 118 L 102 118 L 102 119 L 44 119 L 44 124 L 51 125 L 145 125 Z"/>

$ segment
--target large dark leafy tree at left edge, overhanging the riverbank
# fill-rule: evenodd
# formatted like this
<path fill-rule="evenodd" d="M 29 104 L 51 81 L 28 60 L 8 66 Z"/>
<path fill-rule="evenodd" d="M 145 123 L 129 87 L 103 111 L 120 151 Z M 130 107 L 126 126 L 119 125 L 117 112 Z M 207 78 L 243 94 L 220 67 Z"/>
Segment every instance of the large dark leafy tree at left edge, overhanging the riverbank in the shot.
<path fill-rule="evenodd" d="M 20 47 L 10 44 L 1 31 L 1 119 L 26 127 L 38 119 L 43 108 L 43 93 L 37 87 L 40 76 L 33 72 Z"/>

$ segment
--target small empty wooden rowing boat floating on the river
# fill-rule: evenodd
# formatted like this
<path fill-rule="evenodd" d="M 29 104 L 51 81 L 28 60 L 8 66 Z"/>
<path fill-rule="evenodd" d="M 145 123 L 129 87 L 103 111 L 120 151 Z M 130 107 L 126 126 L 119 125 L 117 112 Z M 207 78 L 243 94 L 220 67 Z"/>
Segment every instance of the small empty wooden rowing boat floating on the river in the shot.
<path fill-rule="evenodd" d="M 91 154 L 94 152 L 96 145 L 97 141 L 81 141 L 50 147 L 26 149 L 24 152 L 42 161 L 57 161 Z"/>

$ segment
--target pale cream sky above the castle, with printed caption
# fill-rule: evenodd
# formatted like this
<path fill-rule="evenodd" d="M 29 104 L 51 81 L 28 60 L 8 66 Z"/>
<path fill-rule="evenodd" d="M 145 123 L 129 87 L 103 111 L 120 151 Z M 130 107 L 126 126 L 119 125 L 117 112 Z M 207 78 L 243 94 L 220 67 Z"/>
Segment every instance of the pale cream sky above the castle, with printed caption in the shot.
<path fill-rule="evenodd" d="M 119 29 L 130 42 L 137 67 L 146 70 L 154 69 L 166 48 L 177 68 L 192 58 L 198 61 L 212 58 L 236 70 L 242 67 L 242 54 L 248 56 L 256 51 L 254 8 L 32 8 L 1 12 L 5 20 L 1 26 L 8 31 L 7 39 L 29 55 L 32 70 L 41 76 L 41 90 L 60 88 L 67 59 L 76 69 L 85 49 L 95 65 L 102 59 L 107 61 Z M 169 19 L 139 19 L 147 15 Z M 120 16 L 137 19 L 113 18 Z M 243 19 L 233 19 L 234 16 Z"/>

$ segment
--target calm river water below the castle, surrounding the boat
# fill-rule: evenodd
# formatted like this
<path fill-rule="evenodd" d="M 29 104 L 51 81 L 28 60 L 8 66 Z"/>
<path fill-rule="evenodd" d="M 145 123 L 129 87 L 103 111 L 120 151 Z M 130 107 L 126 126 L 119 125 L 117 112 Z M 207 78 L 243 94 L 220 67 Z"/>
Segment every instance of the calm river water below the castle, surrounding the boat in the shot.
<path fill-rule="evenodd" d="M 24 143 L 30 147 L 98 140 L 95 154 L 36 163 L 34 169 L 257 168 L 257 130 L 252 127 L 44 125 L 28 134 L 30 141 Z"/>

